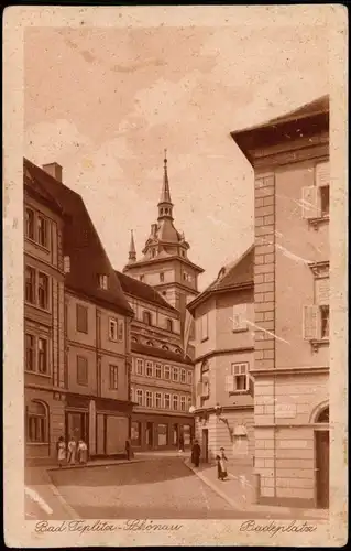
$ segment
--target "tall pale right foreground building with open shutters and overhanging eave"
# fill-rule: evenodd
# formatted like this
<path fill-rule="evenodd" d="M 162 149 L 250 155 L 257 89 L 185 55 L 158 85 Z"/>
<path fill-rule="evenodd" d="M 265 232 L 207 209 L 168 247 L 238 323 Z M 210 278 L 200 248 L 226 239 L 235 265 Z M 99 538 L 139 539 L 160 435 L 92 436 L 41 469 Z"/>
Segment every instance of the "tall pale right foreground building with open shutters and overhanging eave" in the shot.
<path fill-rule="evenodd" d="M 261 501 L 329 503 L 329 98 L 232 138 L 255 173 Z"/>

